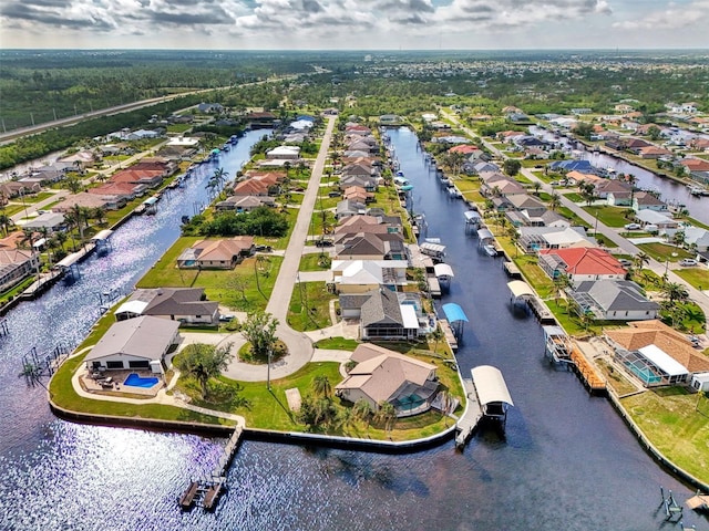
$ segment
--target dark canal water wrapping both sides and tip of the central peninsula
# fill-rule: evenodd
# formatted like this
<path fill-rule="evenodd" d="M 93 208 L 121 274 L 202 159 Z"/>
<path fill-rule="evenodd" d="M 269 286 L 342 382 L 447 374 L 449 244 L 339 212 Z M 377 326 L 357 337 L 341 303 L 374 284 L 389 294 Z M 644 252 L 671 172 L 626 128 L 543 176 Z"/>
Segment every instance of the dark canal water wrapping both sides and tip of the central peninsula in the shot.
<path fill-rule="evenodd" d="M 500 260 L 479 252 L 464 233 L 462 202 L 439 188 L 411 132 L 390 136 L 415 186 L 414 210 L 425 214 L 429 236 L 448 246 L 456 278 L 443 302 L 461 304 L 471 321 L 461 369 L 493 364 L 510 386 L 515 407 L 506 437 L 482 431 L 463 452 L 450 441 L 403 456 L 245 441 L 216 511 L 183 513 L 178 494 L 189 478 L 214 468 L 224 440 L 53 418 L 43 389 L 28 389 L 17 377 L 22 353 L 81 341 L 97 315 L 97 293 L 127 290 L 172 243 L 181 216 L 205 200 L 207 169 L 176 192 L 184 197 L 163 199 L 155 218 L 120 229 L 114 251 L 85 262 L 81 281 L 9 315 L 12 335 L 0 344 L 0 529 L 660 528 L 659 486 L 680 500 L 689 490 L 653 462 L 605 399 L 547 364 L 540 326 L 508 305 Z M 242 139 L 237 149 L 257 138 Z M 220 165 L 234 175 L 247 152 L 235 149 Z M 707 527 L 691 516 L 685 522 Z"/>

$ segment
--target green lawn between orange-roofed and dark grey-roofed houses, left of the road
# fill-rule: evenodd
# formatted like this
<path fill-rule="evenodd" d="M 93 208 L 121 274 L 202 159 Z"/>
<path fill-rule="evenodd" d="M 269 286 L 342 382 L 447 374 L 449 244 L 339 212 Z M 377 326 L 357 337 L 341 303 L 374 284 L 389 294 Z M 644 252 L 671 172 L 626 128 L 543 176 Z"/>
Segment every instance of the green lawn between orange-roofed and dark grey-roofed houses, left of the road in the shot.
<path fill-rule="evenodd" d="M 177 257 L 192 246 L 198 237 L 179 238 L 147 273 L 137 282 L 137 288 L 204 288 L 207 299 L 218 301 L 234 310 L 254 312 L 265 310 L 278 270 L 281 257 L 266 257 L 257 263 L 256 257 L 245 259 L 234 270 L 192 270 L 178 269 Z M 256 270 L 258 269 L 258 284 Z M 238 277 L 247 284 L 244 294 L 229 285 L 229 279 Z M 258 290 L 260 285 L 263 294 Z"/>

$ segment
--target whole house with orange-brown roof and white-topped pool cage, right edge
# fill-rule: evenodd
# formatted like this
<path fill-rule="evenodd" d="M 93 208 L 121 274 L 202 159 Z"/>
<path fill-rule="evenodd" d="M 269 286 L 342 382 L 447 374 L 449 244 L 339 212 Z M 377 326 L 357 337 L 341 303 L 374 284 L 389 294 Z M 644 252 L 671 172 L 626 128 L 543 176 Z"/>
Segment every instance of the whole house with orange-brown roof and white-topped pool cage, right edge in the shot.
<path fill-rule="evenodd" d="M 605 339 L 620 366 L 646 387 L 685 383 L 709 371 L 709 358 L 661 321 L 631 322 L 626 329 L 607 330 Z"/>

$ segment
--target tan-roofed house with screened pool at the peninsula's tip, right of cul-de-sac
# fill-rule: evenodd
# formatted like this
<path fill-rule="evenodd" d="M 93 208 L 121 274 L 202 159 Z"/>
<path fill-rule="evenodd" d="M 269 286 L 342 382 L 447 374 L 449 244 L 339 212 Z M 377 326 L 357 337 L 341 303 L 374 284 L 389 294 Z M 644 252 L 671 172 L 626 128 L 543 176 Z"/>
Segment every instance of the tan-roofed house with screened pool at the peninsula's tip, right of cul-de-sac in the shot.
<path fill-rule="evenodd" d="M 399 417 L 431 408 L 439 388 L 435 365 L 369 343 L 359 345 L 350 360 L 357 365 L 335 387 L 339 397 L 352 404 L 363 399 L 373 410 L 388 402 Z"/>

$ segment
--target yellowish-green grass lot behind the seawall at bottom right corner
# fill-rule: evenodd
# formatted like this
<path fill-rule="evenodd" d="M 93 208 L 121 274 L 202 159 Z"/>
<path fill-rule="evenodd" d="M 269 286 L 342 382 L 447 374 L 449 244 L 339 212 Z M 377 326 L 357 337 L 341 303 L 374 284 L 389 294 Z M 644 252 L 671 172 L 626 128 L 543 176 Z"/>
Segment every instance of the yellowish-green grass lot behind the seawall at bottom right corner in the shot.
<path fill-rule="evenodd" d="M 670 461 L 709 482 L 709 399 L 684 387 L 647 391 L 620 400 L 633 420 Z"/>

